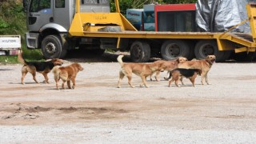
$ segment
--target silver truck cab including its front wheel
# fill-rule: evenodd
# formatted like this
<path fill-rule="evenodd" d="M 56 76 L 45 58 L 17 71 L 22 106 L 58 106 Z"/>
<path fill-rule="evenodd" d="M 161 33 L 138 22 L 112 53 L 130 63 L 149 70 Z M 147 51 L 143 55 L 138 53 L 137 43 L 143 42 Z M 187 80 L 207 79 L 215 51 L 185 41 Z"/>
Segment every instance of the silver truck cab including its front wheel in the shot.
<path fill-rule="evenodd" d="M 26 46 L 28 49 L 41 48 L 45 58 L 64 58 L 67 50 L 84 46 L 82 44 L 86 42 L 90 44 L 93 42 L 91 38 L 70 38 L 69 30 L 76 11 L 110 13 L 109 0 L 25 0 L 23 2 L 29 30 L 26 33 Z M 79 7 L 76 6 L 76 2 L 80 2 Z"/>

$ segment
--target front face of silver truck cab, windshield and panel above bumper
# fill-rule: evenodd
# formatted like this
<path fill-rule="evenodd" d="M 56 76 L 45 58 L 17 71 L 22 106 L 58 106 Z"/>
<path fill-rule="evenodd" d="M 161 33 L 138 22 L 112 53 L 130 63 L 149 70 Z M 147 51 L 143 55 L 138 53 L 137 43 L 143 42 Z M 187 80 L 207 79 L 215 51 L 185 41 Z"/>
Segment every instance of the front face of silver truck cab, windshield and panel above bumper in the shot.
<path fill-rule="evenodd" d="M 50 0 L 31 0 L 27 13 L 27 26 L 30 31 L 38 31 L 53 21 L 53 5 Z"/>

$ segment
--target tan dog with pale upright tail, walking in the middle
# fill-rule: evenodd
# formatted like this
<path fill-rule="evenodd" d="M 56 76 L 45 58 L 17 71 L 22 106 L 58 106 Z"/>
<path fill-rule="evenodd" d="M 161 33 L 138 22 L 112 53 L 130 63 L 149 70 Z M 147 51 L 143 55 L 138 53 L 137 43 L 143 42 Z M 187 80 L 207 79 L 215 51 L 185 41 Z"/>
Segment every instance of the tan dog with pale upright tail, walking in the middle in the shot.
<path fill-rule="evenodd" d="M 125 76 L 128 78 L 128 83 L 130 87 L 134 88 L 134 86 L 131 84 L 131 78 L 133 73 L 142 78 L 142 83 L 140 84 L 140 86 L 145 85 L 146 87 L 148 87 L 146 84 L 146 77 L 150 76 L 156 71 L 164 70 L 162 65 L 158 65 L 154 62 L 151 62 L 151 63 L 122 62 L 122 57 L 123 55 L 118 56 L 118 62 L 122 66 L 121 70 L 119 71 L 118 88 L 121 87 L 120 82 L 122 78 L 124 78 Z"/>

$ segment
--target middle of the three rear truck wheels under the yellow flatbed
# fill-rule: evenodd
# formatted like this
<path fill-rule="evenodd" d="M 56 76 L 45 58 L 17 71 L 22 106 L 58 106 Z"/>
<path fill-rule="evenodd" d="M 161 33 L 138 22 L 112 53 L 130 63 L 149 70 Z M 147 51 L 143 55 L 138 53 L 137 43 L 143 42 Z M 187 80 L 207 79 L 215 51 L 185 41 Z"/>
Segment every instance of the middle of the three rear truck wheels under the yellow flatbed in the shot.
<path fill-rule="evenodd" d="M 181 40 L 167 40 L 161 47 L 162 58 L 172 60 L 178 57 L 188 58 L 190 56 L 190 47 Z"/>

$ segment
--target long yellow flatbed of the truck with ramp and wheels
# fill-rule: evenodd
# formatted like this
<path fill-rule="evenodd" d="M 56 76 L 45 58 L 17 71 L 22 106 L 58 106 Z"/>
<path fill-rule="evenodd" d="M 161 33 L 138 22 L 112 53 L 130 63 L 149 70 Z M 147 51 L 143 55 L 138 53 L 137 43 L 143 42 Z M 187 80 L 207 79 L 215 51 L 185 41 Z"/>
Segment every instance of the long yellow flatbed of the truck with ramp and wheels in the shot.
<path fill-rule="evenodd" d="M 97 2 L 95 1 L 94 5 L 97 5 Z M 202 59 L 209 54 L 214 54 L 217 62 L 223 62 L 231 53 L 255 53 L 256 4 L 254 3 L 246 6 L 248 19 L 236 25 L 250 22 L 251 34 L 243 34 L 230 33 L 235 26 L 223 33 L 138 31 L 120 13 L 118 0 L 114 2 L 116 12 L 102 13 L 82 11 L 85 10 L 82 6 L 88 3 L 82 5 L 80 0 L 76 0 L 74 17 L 68 30 L 62 30 L 64 32 L 60 33 L 60 30 L 48 29 L 46 26 L 42 26 L 39 30 L 39 38 L 36 39 L 42 40 L 37 43 L 42 46 L 43 54 L 48 58 L 61 58 L 68 50 L 79 46 L 79 48 L 100 51 L 129 50 L 134 62 L 147 62 L 154 55 L 161 55 L 162 58 L 170 60 L 181 56 L 188 59 Z M 46 43 L 49 41 L 49 35 L 58 35 L 61 47 L 52 46 L 54 42 Z M 48 41 L 43 42 L 46 37 Z"/>

